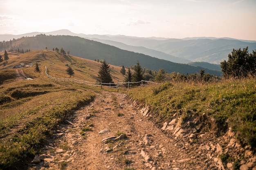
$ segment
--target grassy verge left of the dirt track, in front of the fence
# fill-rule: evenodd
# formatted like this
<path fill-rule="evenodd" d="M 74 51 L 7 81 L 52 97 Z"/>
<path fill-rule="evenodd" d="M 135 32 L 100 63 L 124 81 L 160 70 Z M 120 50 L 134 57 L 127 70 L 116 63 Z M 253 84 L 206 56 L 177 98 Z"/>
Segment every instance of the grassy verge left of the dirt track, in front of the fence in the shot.
<path fill-rule="evenodd" d="M 25 165 L 27 158 L 42 148 L 54 126 L 94 98 L 90 91 L 55 85 L 45 87 L 40 83 L 17 88 L 2 88 L 2 93 L 12 100 L 0 105 L 0 169 Z"/>

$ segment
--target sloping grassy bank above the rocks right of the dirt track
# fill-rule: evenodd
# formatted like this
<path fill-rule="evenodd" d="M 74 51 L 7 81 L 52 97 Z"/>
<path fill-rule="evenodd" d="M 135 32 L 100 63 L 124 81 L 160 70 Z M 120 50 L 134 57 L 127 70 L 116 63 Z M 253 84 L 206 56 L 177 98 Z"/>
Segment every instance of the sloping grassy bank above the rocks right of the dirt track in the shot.
<path fill-rule="evenodd" d="M 243 144 L 256 148 L 255 79 L 209 84 L 165 83 L 130 89 L 128 94 L 149 105 L 164 119 L 176 114 L 186 123 L 192 117 L 205 115 L 215 124 L 218 135 L 224 134 L 230 126 Z"/>

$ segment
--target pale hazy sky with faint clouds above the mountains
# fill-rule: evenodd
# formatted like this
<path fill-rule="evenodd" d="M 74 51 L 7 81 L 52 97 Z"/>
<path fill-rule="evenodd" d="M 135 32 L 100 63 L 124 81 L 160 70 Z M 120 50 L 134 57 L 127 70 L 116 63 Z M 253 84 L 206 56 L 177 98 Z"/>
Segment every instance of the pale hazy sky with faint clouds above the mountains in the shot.
<path fill-rule="evenodd" d="M 0 0 L 0 34 L 256 40 L 256 0 Z"/>

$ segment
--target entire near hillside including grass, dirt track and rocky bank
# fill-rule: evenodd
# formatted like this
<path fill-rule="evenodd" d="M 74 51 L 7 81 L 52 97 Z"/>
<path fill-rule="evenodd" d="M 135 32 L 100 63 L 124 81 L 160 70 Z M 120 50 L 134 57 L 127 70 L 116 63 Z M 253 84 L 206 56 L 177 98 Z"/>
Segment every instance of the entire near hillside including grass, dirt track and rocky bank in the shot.
<path fill-rule="evenodd" d="M 44 67 L 67 78 L 72 63 L 74 78 L 95 82 L 97 61 L 52 50 L 9 58 L 0 65 L 0 169 L 256 168 L 253 78 L 101 89 L 53 80 Z M 34 65 L 13 69 L 19 63 Z"/>

